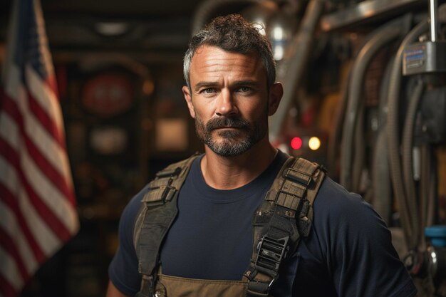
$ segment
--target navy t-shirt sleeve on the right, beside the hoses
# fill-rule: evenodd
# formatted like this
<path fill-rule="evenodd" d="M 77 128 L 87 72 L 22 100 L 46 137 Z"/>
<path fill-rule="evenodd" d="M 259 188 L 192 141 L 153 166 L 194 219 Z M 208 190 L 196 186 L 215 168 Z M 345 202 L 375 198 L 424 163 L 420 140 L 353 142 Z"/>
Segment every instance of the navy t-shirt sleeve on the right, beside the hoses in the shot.
<path fill-rule="evenodd" d="M 415 296 L 415 286 L 391 243 L 390 231 L 359 195 L 326 179 L 314 215 L 338 296 Z"/>

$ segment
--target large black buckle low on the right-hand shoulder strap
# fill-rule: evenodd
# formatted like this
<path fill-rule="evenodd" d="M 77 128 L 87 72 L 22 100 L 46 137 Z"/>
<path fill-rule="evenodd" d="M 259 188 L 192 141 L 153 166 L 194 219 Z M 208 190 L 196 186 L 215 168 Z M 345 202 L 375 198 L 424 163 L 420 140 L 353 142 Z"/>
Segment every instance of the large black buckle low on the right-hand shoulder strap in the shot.
<path fill-rule="evenodd" d="M 272 239 L 264 235 L 257 246 L 259 254 L 257 254 L 256 269 L 272 276 L 274 278 L 273 281 L 277 276 L 277 271 L 279 271 L 279 265 L 289 249 L 288 241 L 289 236 L 281 239 Z M 272 281 L 270 286 L 271 284 Z"/>

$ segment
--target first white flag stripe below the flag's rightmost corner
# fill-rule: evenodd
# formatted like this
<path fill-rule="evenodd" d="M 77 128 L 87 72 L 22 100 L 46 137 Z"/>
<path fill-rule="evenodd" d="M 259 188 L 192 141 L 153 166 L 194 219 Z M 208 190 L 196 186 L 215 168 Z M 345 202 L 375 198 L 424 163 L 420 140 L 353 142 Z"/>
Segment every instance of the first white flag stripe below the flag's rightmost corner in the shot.
<path fill-rule="evenodd" d="M 5 174 L 4 171 L 7 171 Z M 19 181 L 16 177 L 16 170 L 11 167 L 3 156 L 0 155 L 0 181 L 5 185 L 9 191 L 16 194 L 19 200 L 19 208 L 26 221 L 33 238 L 36 240 L 38 246 L 41 248 L 44 254 L 48 255 L 54 250 L 54 246 L 58 246 L 61 242 L 56 235 L 51 231 L 50 227 L 43 222 L 43 219 L 36 213 L 36 209 L 29 201 L 29 197 L 24 192 L 24 187 L 20 187 L 19 192 L 15 191 L 19 185 Z"/>

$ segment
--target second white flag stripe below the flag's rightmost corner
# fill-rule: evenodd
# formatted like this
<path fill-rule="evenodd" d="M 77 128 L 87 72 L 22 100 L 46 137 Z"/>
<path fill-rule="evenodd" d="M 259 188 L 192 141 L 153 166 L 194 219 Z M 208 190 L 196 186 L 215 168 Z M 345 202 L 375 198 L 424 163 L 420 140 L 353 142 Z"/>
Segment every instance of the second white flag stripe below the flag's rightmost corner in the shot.
<path fill-rule="evenodd" d="M 37 269 L 37 261 L 28 241 L 24 237 L 14 212 L 0 200 L 0 228 L 11 236 L 23 260 L 26 271 L 31 275 Z"/>

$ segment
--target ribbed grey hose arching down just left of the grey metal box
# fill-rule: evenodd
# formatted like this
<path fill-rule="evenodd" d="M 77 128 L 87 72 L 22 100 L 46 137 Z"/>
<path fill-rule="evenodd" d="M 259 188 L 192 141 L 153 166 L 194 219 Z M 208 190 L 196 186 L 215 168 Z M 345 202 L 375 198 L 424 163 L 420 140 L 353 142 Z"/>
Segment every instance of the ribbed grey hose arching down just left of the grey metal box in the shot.
<path fill-rule="evenodd" d="M 393 193 L 398 201 L 400 221 L 403 226 L 405 242 L 408 249 L 417 246 L 420 228 L 416 213 L 415 201 L 408 199 L 403 186 L 400 161 L 400 137 L 398 125 L 399 97 L 401 87 L 401 70 L 403 51 L 406 46 L 416 41 L 418 36 L 427 31 L 427 21 L 422 21 L 408 33 L 398 48 L 390 75 L 390 85 L 388 90 L 388 154 L 390 161 L 390 176 L 392 177 Z"/>

